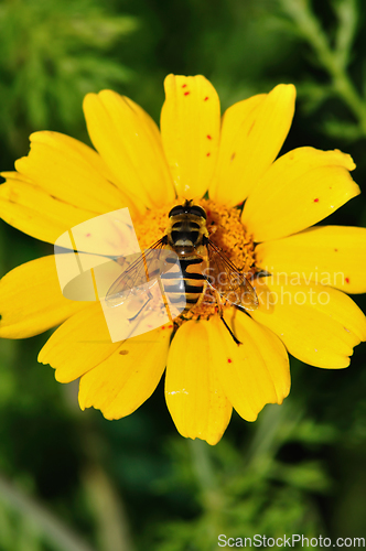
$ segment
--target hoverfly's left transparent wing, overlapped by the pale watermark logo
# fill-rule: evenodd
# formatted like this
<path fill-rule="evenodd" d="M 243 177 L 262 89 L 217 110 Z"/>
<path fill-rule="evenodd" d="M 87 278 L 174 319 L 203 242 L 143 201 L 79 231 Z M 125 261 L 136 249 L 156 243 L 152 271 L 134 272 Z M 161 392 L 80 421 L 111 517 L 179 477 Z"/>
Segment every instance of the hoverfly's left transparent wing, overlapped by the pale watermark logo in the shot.
<path fill-rule="evenodd" d="M 165 240 L 162 238 L 147 251 L 131 255 L 127 258 L 121 257 L 118 260 L 125 270 L 106 294 L 108 306 L 118 306 L 131 296 L 139 296 L 147 293 L 148 289 L 157 283 L 157 278 L 164 270 L 165 266 L 161 258 L 164 246 Z"/>

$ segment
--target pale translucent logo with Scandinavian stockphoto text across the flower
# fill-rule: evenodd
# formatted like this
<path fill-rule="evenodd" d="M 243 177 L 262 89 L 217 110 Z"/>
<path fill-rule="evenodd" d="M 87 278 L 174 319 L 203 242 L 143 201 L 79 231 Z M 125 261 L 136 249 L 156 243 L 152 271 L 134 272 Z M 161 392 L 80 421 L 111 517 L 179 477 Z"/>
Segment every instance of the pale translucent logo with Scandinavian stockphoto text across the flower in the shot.
<path fill-rule="evenodd" d="M 120 208 L 65 231 L 55 242 L 60 287 L 66 299 L 99 301 L 111 342 L 141 335 L 171 324 L 186 306 L 184 285 L 180 301 L 171 300 L 165 281 L 183 280 L 177 255 L 170 249 L 141 250 L 128 208 Z M 331 301 L 330 288 L 344 284 L 344 273 L 271 273 L 249 278 L 260 307 L 269 315 L 276 305 L 322 307 Z M 244 274 L 203 271 L 208 287 L 234 304 L 247 303 Z M 206 293 L 203 303 L 212 304 Z"/>

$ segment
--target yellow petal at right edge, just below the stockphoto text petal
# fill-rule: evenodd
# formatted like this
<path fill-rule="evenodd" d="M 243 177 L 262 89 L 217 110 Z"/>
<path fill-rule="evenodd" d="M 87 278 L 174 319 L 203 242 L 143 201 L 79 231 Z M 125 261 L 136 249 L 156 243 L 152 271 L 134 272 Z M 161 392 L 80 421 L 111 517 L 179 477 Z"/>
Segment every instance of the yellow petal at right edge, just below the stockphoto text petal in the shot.
<path fill-rule="evenodd" d="M 292 356 L 324 368 L 349 365 L 353 347 L 366 339 L 366 318 L 341 291 L 299 278 L 261 278 L 260 307 L 250 315 L 273 331 Z"/>

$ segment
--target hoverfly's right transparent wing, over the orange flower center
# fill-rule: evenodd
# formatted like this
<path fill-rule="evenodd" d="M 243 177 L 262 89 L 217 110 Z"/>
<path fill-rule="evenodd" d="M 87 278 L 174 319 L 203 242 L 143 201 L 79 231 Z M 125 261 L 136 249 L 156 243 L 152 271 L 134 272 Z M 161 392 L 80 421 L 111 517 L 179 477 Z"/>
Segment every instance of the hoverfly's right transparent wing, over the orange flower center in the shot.
<path fill-rule="evenodd" d="M 259 305 L 256 291 L 243 272 L 211 240 L 208 250 L 207 281 L 222 296 L 245 310 L 256 310 Z"/>

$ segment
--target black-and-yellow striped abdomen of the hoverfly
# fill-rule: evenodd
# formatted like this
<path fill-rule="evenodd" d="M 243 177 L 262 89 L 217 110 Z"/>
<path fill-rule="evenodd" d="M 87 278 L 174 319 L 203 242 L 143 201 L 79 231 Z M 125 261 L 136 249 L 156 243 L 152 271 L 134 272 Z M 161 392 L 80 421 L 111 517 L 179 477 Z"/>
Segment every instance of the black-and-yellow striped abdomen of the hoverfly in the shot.
<path fill-rule="evenodd" d="M 172 263 L 175 262 L 174 259 Z M 181 271 L 176 268 L 174 271 L 162 273 L 164 292 L 168 302 L 181 311 L 181 314 L 189 312 L 197 304 L 206 287 L 206 278 L 203 270 L 206 268 L 206 261 L 198 256 L 192 258 L 180 258 Z"/>

